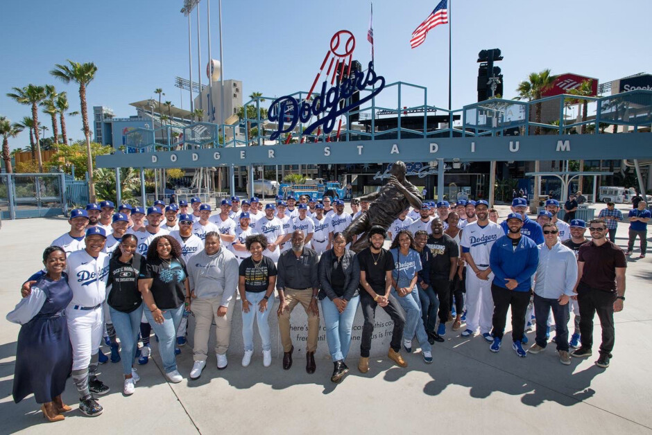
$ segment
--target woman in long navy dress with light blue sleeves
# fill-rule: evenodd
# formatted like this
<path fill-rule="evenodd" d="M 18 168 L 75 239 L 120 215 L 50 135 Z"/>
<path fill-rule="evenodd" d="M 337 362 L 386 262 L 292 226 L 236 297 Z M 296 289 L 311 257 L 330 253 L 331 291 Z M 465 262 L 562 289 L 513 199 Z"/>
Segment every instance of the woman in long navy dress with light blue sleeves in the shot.
<path fill-rule="evenodd" d="M 64 419 L 70 407 L 61 393 L 72 367 L 72 347 L 68 337 L 65 308 L 72 290 L 64 271 L 66 253 L 56 246 L 43 252 L 46 272 L 31 276 L 31 292 L 7 314 L 7 320 L 19 323 L 14 373 L 13 398 L 20 402 L 31 393 L 42 404 L 43 416 L 50 421 Z"/>

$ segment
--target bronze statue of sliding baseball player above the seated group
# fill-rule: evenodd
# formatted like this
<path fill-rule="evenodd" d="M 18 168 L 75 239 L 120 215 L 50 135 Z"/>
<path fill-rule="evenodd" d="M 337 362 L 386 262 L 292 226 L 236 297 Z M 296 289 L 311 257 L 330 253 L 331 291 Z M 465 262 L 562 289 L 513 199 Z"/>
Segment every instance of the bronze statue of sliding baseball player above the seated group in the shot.
<path fill-rule="evenodd" d="M 379 191 L 361 197 L 370 202 L 367 211 L 363 211 L 344 230 L 347 242 L 352 242 L 353 236 L 359 236 L 351 245 L 351 250 L 359 252 L 368 247 L 367 232 L 374 225 L 379 225 L 385 230 L 409 206 L 420 209 L 423 197 L 419 190 L 407 179 L 405 163 L 397 161 L 390 170 L 391 177 L 387 184 Z"/>

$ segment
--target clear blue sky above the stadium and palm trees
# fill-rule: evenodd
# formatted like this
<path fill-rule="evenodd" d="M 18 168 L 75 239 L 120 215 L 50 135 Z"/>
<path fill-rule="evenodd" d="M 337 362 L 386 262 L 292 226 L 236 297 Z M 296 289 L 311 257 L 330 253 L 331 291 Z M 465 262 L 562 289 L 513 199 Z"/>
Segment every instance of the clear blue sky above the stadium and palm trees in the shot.
<path fill-rule="evenodd" d="M 128 103 L 154 96 L 162 87 L 177 107 L 189 96 L 173 86 L 175 76 L 188 76 L 187 18 L 182 0 L 34 0 L 3 5 L 0 37 L 0 115 L 19 121 L 30 109 L 10 98 L 11 87 L 28 83 L 56 85 L 68 91 L 71 111 L 79 109 L 77 88 L 49 75 L 67 58 L 95 62 L 98 72 L 89 85 L 89 111 L 94 105 L 130 116 Z M 428 88 L 428 103 L 447 106 L 448 27 L 430 31 L 426 42 L 411 49 L 412 31 L 438 0 L 374 1 L 375 70 L 388 82 L 401 80 Z M 202 71 L 206 82 L 207 0 L 200 2 Z M 369 1 L 361 0 L 223 0 L 225 78 L 243 81 L 244 95 L 261 91 L 282 96 L 309 89 L 330 37 L 352 31 L 355 56 L 370 59 L 366 41 Z M 501 48 L 504 96 L 531 71 L 574 72 L 606 82 L 652 71 L 649 54 L 649 0 L 452 0 L 453 108 L 477 98 L 477 53 Z M 212 57 L 218 58 L 218 1 L 211 1 Z M 196 12 L 193 12 L 194 80 L 197 77 Z M 384 104 L 395 105 L 386 94 Z M 403 105 L 420 104 L 407 94 Z M 413 101 L 409 101 L 414 98 Z M 49 118 L 40 115 L 42 123 Z M 42 117 L 42 118 L 41 118 Z M 90 116 L 92 121 L 92 114 Z M 82 139 L 81 119 L 67 118 L 69 136 Z M 47 133 L 48 136 L 51 132 Z M 28 145 L 28 135 L 12 139 L 12 148 Z"/>

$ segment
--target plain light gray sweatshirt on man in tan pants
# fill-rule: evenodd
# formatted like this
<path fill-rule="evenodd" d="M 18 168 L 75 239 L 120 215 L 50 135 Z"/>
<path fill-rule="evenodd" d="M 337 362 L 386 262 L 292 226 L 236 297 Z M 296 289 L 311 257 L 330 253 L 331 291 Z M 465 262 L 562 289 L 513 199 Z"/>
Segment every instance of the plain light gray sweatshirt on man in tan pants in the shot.
<path fill-rule="evenodd" d="M 220 247 L 217 254 L 209 256 L 200 251 L 187 262 L 190 290 L 198 298 L 220 297 L 220 305 L 229 305 L 238 287 L 238 260 L 231 251 Z"/>

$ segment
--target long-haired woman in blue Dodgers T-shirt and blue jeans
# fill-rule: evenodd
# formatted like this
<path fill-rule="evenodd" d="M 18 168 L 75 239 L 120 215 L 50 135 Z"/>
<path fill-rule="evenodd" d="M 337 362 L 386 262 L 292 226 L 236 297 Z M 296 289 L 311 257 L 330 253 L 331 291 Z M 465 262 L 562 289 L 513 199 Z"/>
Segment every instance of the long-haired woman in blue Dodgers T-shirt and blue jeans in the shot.
<path fill-rule="evenodd" d="M 432 362 L 432 345 L 423 326 L 421 301 L 415 287 L 418 272 L 421 270 L 421 258 L 415 249 L 414 238 L 409 230 L 399 231 L 389 249 L 394 257 L 395 268 L 392 271 L 392 294 L 405 310 L 405 328 L 403 330 L 403 347 L 412 352 L 412 339 L 416 335 L 421 344 L 424 362 Z"/>

